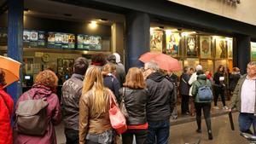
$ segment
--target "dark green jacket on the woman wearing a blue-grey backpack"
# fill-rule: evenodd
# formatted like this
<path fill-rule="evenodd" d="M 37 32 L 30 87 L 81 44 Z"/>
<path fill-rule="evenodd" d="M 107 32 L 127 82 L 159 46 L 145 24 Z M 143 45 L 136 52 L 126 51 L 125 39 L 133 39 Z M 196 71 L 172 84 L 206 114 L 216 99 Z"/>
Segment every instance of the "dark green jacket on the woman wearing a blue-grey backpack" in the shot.
<path fill-rule="evenodd" d="M 212 84 L 211 82 L 207 79 L 207 76 L 204 74 L 201 74 L 197 77 L 197 80 L 192 84 L 192 95 L 195 98 L 195 102 L 196 103 L 208 103 L 208 102 L 212 102 L 211 101 L 200 101 L 198 99 L 198 88 L 201 85 L 207 85 L 212 89 Z"/>

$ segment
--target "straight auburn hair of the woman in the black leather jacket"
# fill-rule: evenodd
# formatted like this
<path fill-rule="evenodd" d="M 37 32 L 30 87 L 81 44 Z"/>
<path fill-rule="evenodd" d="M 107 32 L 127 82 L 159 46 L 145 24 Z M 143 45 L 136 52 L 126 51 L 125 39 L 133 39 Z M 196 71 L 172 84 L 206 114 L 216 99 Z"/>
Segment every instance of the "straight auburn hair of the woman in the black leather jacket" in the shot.
<path fill-rule="evenodd" d="M 143 72 L 137 67 L 131 67 L 126 75 L 124 86 L 131 89 L 146 88 Z"/>

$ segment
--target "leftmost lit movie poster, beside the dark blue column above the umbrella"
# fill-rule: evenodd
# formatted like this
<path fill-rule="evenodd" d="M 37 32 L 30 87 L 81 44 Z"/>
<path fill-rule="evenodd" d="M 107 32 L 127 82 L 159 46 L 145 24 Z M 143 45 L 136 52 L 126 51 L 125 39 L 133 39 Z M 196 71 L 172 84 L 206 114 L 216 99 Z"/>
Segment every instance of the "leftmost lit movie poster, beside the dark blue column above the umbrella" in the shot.
<path fill-rule="evenodd" d="M 162 52 L 163 32 L 150 31 L 150 51 Z"/>

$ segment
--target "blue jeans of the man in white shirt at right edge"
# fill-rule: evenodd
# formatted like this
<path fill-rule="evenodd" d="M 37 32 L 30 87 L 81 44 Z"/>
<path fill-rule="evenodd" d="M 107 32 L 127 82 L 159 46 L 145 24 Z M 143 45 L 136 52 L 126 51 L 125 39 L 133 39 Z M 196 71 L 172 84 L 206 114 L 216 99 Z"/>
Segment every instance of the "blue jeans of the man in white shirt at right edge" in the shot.
<path fill-rule="evenodd" d="M 239 128 L 241 132 L 256 135 L 256 116 L 253 113 L 241 112 L 238 117 Z M 253 133 L 250 130 L 253 124 Z"/>

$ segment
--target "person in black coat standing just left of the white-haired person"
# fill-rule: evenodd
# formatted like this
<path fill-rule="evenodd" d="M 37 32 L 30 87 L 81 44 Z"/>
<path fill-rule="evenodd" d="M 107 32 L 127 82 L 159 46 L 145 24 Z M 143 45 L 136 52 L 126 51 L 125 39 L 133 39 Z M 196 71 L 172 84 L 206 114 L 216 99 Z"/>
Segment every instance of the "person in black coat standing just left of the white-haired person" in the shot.
<path fill-rule="evenodd" d="M 189 78 L 189 67 L 185 66 L 179 83 L 179 94 L 182 96 L 182 114 L 189 114 Z"/>

